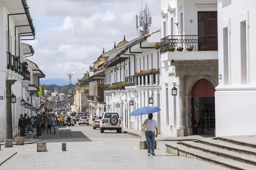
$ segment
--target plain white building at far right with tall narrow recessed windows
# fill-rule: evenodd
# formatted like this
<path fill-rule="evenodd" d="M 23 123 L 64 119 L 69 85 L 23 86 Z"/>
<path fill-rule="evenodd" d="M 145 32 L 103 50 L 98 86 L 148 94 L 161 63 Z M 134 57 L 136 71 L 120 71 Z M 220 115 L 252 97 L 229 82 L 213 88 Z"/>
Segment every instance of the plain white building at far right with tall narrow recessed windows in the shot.
<path fill-rule="evenodd" d="M 256 135 L 255 0 L 218 0 L 216 136 Z"/>

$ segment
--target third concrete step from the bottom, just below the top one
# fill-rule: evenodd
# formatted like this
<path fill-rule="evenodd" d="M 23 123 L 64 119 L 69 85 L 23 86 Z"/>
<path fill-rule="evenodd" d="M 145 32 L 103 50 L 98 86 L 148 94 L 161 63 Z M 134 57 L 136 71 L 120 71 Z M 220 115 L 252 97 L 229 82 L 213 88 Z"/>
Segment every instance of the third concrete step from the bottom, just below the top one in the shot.
<path fill-rule="evenodd" d="M 228 143 L 228 142 L 222 142 L 222 141 L 214 140 L 214 139 L 198 139 L 193 142 L 206 144 L 206 145 L 209 145 L 212 147 L 218 147 L 218 148 L 225 149 L 225 150 L 230 150 L 233 152 L 244 153 L 247 155 L 256 156 L 256 148 L 241 146 L 241 145 L 232 144 L 232 143 Z"/>

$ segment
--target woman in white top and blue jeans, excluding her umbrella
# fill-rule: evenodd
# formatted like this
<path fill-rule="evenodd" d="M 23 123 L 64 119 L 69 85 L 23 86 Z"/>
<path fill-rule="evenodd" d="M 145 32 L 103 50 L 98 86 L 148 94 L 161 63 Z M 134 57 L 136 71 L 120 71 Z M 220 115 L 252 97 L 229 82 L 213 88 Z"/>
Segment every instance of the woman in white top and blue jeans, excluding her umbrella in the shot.
<path fill-rule="evenodd" d="M 147 148 L 148 148 L 148 156 L 150 153 L 155 155 L 154 153 L 154 141 L 155 137 L 158 136 L 158 129 L 157 129 L 157 121 L 153 119 L 153 114 L 148 114 L 148 119 L 145 119 L 143 125 L 147 125 L 148 129 L 145 132 L 145 137 L 147 140 Z M 156 132 L 156 133 L 155 133 Z"/>

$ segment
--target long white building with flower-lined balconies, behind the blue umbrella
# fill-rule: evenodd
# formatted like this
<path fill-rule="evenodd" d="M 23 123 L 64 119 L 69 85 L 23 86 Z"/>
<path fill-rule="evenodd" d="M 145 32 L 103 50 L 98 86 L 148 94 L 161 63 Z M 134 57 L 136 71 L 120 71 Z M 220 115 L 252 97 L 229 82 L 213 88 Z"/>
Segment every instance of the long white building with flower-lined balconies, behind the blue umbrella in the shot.
<path fill-rule="evenodd" d="M 118 111 L 122 117 L 123 128 L 141 129 L 146 116 L 129 116 L 135 109 L 144 106 L 160 108 L 160 71 L 157 70 L 160 68 L 160 54 L 154 49 L 159 41 L 160 30 L 129 42 L 124 39 L 113 50 L 102 54 L 108 56 L 108 62 L 103 65 L 106 69 L 106 111 Z M 157 71 L 148 73 L 152 68 Z M 141 70 L 144 72 L 139 74 Z M 148 103 L 151 96 L 154 99 L 153 104 Z M 154 113 L 159 125 L 160 114 Z"/>

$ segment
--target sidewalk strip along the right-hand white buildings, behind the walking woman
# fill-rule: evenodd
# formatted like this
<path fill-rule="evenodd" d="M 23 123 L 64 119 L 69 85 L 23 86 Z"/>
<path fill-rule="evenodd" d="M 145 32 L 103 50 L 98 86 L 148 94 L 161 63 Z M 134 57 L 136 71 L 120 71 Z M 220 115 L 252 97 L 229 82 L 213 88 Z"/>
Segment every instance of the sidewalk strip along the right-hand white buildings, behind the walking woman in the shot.
<path fill-rule="evenodd" d="M 122 129 L 122 133 L 128 133 L 134 136 L 138 136 L 140 138 L 145 138 L 143 136 L 140 130 L 134 130 L 134 129 Z M 175 136 L 163 136 L 163 135 L 158 135 L 156 138 L 156 141 L 193 141 L 197 139 L 204 139 L 204 138 L 213 138 L 213 135 L 204 135 L 204 136 L 199 136 L 199 135 L 192 135 L 192 136 L 183 136 L 183 137 L 175 137 Z"/>

